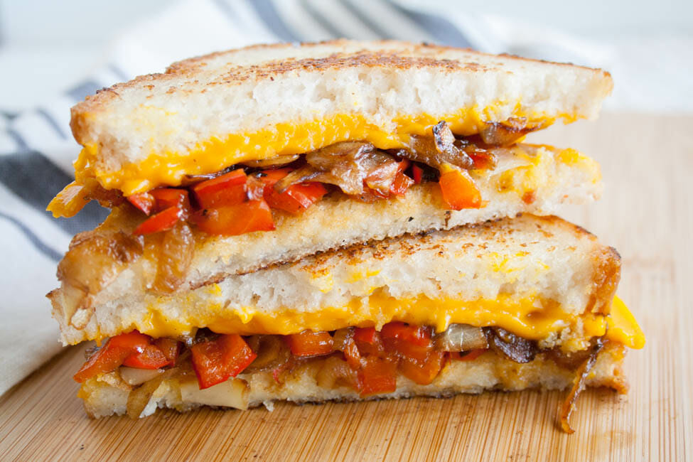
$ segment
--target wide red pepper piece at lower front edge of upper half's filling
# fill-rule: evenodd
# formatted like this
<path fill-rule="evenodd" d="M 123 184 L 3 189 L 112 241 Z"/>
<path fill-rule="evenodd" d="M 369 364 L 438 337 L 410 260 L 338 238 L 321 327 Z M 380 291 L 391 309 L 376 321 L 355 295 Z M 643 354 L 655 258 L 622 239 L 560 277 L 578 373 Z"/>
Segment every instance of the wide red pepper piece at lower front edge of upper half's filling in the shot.
<path fill-rule="evenodd" d="M 272 210 L 264 200 L 200 210 L 191 220 L 210 235 L 235 236 L 251 231 L 274 230 Z"/>

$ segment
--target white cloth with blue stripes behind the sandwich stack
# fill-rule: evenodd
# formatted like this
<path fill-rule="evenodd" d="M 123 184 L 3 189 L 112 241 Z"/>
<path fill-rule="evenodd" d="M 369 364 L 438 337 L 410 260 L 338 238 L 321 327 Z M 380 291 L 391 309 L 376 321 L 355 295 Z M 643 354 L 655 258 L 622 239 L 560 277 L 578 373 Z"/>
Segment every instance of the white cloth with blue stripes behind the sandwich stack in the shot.
<path fill-rule="evenodd" d="M 60 350 L 44 295 L 57 286 L 55 264 L 72 235 L 107 214 L 95 203 L 69 220 L 45 212 L 72 180 L 79 146 L 70 107 L 86 95 L 190 55 L 277 41 L 393 38 L 591 65 L 608 58 L 557 33 L 528 33 L 462 9 L 436 11 L 394 0 L 183 1 L 124 34 L 103 65 L 53 100 L 18 114 L 0 103 L 0 394 Z"/>

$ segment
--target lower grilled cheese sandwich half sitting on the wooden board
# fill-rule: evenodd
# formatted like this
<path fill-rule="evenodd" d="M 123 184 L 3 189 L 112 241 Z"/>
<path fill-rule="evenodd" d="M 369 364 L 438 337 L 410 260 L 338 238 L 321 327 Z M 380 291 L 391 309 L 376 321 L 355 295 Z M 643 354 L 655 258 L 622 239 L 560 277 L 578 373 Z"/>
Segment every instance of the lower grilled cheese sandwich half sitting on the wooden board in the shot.
<path fill-rule="evenodd" d="M 92 417 L 574 380 L 624 392 L 625 348 L 644 339 L 615 298 L 620 271 L 613 248 L 553 216 L 355 245 L 183 299 L 124 294 L 95 313 L 109 340 L 75 378 Z M 104 369 L 119 348 L 127 359 Z"/>

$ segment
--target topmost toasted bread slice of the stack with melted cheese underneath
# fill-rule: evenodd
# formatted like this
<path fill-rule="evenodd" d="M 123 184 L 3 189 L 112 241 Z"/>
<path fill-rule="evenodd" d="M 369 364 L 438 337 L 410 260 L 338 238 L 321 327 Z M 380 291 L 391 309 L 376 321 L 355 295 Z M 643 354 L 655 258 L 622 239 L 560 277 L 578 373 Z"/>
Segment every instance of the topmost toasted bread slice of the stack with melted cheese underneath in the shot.
<path fill-rule="evenodd" d="M 345 140 L 407 145 L 446 120 L 531 131 L 595 117 L 608 72 L 398 41 L 259 45 L 171 65 L 72 109 L 78 182 L 126 195 Z"/>

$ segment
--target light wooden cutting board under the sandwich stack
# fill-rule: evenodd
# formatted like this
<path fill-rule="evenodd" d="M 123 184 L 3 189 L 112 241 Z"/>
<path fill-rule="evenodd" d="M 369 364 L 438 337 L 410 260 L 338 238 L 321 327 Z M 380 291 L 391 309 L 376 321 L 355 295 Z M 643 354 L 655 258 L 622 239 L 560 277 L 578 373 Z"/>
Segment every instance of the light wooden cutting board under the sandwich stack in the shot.
<path fill-rule="evenodd" d="M 603 199 L 563 215 L 621 252 L 619 293 L 648 337 L 626 358 L 630 393 L 584 393 L 576 434 L 557 427 L 563 394 L 537 391 L 90 420 L 70 378 L 84 347 L 73 347 L 0 398 L 0 460 L 693 457 L 693 117 L 606 114 L 530 141 L 601 162 Z"/>

